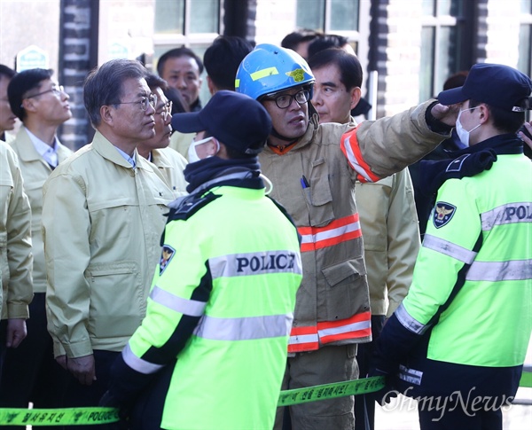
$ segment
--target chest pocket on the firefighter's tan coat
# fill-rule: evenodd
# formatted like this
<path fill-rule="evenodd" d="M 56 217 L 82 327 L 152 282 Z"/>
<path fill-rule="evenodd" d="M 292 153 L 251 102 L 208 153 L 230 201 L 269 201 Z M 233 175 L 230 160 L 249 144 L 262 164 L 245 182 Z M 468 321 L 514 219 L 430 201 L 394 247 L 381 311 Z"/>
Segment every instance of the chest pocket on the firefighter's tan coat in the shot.
<path fill-rule="evenodd" d="M 309 210 L 311 226 L 322 227 L 334 219 L 331 184 L 324 158 L 312 161 L 309 187 L 303 188 L 302 192 Z"/>

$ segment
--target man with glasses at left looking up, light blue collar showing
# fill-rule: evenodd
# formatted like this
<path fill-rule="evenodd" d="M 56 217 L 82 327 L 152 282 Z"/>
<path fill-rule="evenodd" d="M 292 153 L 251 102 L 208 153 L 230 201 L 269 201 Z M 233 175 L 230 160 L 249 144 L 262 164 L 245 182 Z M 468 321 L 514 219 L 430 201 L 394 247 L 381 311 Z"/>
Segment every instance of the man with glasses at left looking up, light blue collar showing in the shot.
<path fill-rule="evenodd" d="M 18 332 L 27 331 L 27 338 L 17 348 L 14 347 L 19 342 L 10 341 L 11 348 L 7 348 L 0 379 L 0 406 L 27 408 L 27 403 L 33 402 L 35 408 L 53 408 L 59 406 L 65 379 L 53 360 L 52 340 L 46 331 L 41 213 L 44 182 L 59 162 L 72 153 L 57 136 L 59 126 L 72 113 L 68 94 L 52 78 L 51 70 L 35 68 L 15 74 L 7 87 L 7 96 L 12 113 L 22 121 L 10 145 L 19 158 L 31 207 L 34 298 L 26 323 L 22 318 L 8 318 L 2 323 L 3 342 L 16 339 Z"/>

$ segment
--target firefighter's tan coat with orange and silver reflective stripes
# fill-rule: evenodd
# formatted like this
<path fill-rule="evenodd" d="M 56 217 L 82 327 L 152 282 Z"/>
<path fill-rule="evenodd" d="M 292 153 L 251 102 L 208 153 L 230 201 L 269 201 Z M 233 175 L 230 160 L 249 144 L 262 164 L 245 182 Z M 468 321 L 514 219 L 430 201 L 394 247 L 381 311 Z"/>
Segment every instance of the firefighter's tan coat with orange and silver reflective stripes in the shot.
<path fill-rule="evenodd" d="M 315 115 L 291 151 L 279 156 L 267 147 L 259 155 L 262 173 L 273 183 L 271 197 L 286 207 L 302 236 L 303 280 L 289 352 L 371 340 L 356 171 L 389 176 L 434 149 L 447 136 L 428 129 L 430 104 L 364 121 L 350 136 L 344 133 L 352 125 L 319 126 Z"/>

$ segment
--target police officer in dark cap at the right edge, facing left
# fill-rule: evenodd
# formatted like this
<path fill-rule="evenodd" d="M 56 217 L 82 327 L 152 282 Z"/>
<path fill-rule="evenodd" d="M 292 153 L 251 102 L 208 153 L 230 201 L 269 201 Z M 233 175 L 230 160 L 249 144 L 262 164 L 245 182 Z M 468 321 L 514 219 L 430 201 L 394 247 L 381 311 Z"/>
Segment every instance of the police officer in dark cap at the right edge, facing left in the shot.
<path fill-rule="evenodd" d="M 477 64 L 438 96 L 460 107 L 456 170 L 481 151 L 497 161 L 442 184 L 410 292 L 377 342 L 372 374 L 418 398 L 422 430 L 501 429 L 519 385 L 532 331 L 532 164 L 516 132 L 531 91 L 512 67 Z"/>

